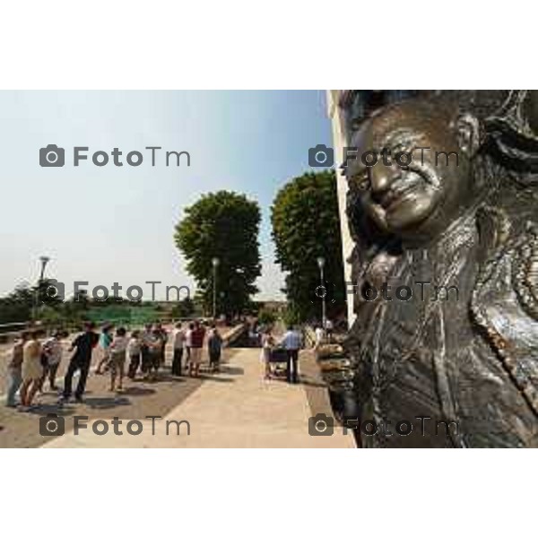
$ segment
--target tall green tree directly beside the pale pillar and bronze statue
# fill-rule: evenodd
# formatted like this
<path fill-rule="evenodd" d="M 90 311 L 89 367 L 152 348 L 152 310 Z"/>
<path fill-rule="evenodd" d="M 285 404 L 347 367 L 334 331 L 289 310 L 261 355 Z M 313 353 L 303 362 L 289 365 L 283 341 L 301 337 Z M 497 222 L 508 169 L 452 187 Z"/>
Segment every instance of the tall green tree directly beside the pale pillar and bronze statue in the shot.
<path fill-rule="evenodd" d="M 293 316 L 321 318 L 325 294 L 328 317 L 345 312 L 342 238 L 333 170 L 293 178 L 276 195 L 271 214 L 276 261 L 287 272 L 283 290 Z M 318 257 L 325 258 L 324 286 Z"/>

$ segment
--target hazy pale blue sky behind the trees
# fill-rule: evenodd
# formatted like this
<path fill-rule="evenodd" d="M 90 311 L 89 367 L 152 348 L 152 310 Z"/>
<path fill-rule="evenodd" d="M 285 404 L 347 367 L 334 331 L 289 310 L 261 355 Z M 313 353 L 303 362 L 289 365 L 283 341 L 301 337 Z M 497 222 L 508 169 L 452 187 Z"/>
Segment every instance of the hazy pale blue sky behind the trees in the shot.
<path fill-rule="evenodd" d="M 65 166 L 41 168 L 39 148 L 65 148 Z M 260 298 L 279 298 L 269 208 L 290 178 L 309 170 L 308 148 L 331 145 L 325 91 L 0 91 L 0 294 L 39 274 L 111 288 L 162 281 L 192 285 L 173 243 L 184 208 L 229 189 L 263 214 Z M 89 160 L 73 166 L 73 147 Z M 151 166 L 145 146 L 187 151 L 191 166 Z M 141 151 L 143 164 L 97 167 L 96 151 Z M 67 290 L 69 291 L 69 290 Z"/>

